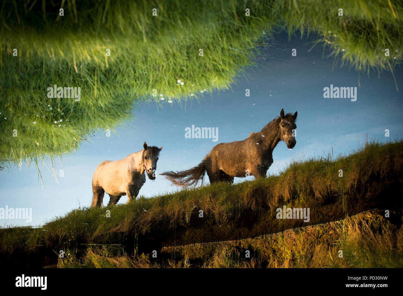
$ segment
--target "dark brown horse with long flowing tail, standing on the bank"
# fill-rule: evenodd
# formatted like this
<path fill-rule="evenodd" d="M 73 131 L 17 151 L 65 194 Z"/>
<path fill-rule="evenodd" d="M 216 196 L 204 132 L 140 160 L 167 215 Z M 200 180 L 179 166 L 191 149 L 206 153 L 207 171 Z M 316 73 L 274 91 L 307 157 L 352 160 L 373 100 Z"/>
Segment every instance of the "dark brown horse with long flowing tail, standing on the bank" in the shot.
<path fill-rule="evenodd" d="M 293 149 L 295 129 L 297 125 L 297 112 L 284 114 L 281 109 L 280 116 L 266 124 L 260 132 L 252 132 L 242 141 L 220 143 L 204 157 L 202 162 L 185 171 L 163 172 L 176 186 L 196 185 L 207 172 L 210 183 L 234 182 L 234 177 L 253 175 L 256 179 L 266 177 L 268 168 L 273 163 L 273 150 L 280 141 L 284 141 L 289 149 Z"/>

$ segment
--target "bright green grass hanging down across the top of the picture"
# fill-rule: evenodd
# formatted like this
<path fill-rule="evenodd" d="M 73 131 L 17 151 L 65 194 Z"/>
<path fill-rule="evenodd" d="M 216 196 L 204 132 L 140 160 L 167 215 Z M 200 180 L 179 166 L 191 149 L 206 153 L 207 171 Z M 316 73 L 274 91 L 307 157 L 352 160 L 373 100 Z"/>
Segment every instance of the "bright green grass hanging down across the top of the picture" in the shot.
<path fill-rule="evenodd" d="M 168 100 L 228 89 L 253 64 L 256 46 L 284 29 L 317 35 L 335 64 L 359 72 L 393 71 L 402 60 L 397 1 L 68 0 L 63 17 L 60 3 L 24 3 L 0 7 L 2 167 L 72 153 L 93 130 L 128 119 L 136 102 L 167 107 Z M 48 99 L 54 84 L 81 87 L 81 101 Z"/>

